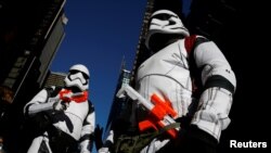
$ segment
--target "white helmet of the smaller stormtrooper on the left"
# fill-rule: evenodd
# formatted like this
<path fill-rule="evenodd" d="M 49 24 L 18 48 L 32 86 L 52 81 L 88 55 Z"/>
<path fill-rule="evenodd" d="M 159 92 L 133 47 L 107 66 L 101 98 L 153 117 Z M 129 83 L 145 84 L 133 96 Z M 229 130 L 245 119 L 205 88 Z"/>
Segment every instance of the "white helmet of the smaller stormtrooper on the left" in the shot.
<path fill-rule="evenodd" d="M 66 87 L 77 87 L 81 91 L 89 89 L 89 69 L 81 64 L 73 65 L 69 68 L 69 74 L 65 77 Z"/>

